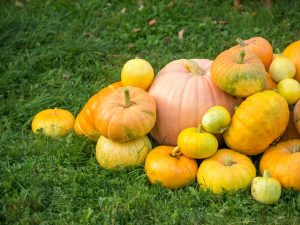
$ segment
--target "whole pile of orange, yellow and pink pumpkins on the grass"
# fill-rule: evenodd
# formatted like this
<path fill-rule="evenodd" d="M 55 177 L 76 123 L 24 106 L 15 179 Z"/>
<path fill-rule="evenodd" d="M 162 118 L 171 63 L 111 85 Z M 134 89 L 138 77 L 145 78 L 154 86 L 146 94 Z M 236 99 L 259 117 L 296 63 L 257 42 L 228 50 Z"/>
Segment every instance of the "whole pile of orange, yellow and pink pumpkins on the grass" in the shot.
<path fill-rule="evenodd" d="M 150 183 L 165 188 L 197 179 L 213 193 L 251 187 L 254 199 L 273 204 L 281 187 L 300 191 L 300 40 L 282 54 L 262 37 L 236 41 L 214 60 L 175 60 L 155 77 L 146 60 L 129 60 L 121 81 L 92 96 L 76 120 L 48 110 L 32 129 L 57 137 L 74 125 L 97 141 L 101 167 L 145 163 Z"/>

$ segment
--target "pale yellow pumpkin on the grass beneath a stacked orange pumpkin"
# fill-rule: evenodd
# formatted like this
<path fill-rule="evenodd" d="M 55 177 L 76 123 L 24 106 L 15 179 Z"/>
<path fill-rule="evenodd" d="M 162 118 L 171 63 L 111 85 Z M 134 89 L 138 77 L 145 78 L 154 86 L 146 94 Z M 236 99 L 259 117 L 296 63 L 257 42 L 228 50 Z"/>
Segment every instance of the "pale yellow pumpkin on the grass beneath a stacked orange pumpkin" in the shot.
<path fill-rule="evenodd" d="M 128 142 L 115 142 L 101 136 L 96 146 L 96 159 L 101 167 L 118 170 L 143 164 L 151 149 L 147 136 Z"/>

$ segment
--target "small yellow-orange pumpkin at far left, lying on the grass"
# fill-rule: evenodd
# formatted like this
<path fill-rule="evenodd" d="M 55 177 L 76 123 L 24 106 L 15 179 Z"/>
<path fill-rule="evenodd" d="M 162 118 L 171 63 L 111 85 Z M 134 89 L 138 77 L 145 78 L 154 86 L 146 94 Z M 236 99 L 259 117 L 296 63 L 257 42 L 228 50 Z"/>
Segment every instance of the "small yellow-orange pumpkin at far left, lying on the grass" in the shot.
<path fill-rule="evenodd" d="M 64 109 L 46 109 L 35 115 L 31 123 L 34 133 L 43 133 L 49 137 L 63 137 L 73 131 L 75 118 Z"/>

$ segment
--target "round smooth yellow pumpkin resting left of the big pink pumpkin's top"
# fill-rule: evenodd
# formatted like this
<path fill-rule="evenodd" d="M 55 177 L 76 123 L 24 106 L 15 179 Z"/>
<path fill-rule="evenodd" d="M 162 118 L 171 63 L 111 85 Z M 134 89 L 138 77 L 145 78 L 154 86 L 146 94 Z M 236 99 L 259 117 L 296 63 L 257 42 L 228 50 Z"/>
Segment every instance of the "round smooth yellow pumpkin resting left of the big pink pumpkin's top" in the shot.
<path fill-rule="evenodd" d="M 127 61 L 121 71 L 121 81 L 124 86 L 134 86 L 146 90 L 152 83 L 154 70 L 144 59 Z"/>

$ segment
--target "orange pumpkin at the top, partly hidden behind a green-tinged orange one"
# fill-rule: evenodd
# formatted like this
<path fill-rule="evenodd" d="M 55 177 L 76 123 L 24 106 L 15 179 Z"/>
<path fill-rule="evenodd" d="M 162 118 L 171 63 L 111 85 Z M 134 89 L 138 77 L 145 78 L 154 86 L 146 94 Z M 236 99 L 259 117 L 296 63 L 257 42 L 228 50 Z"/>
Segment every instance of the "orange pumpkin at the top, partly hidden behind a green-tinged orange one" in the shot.
<path fill-rule="evenodd" d="M 252 37 L 248 40 L 237 38 L 236 41 L 238 45 L 230 48 L 230 50 L 240 52 L 244 49 L 247 52 L 256 55 L 264 64 L 265 69 L 268 70 L 273 59 L 273 48 L 267 39 L 263 37 Z"/>

